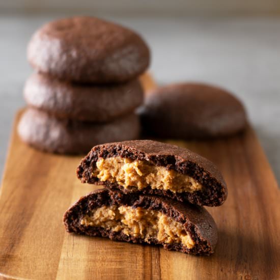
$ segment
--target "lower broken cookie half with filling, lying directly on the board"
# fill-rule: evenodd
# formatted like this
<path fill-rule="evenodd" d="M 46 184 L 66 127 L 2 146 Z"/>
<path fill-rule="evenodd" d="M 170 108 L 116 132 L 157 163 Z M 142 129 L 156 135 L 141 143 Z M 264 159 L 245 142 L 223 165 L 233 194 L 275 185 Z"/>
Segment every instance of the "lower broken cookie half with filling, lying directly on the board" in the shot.
<path fill-rule="evenodd" d="M 200 206 L 155 195 L 134 195 L 99 189 L 80 198 L 64 214 L 68 232 L 195 255 L 214 253 L 217 227 Z"/>

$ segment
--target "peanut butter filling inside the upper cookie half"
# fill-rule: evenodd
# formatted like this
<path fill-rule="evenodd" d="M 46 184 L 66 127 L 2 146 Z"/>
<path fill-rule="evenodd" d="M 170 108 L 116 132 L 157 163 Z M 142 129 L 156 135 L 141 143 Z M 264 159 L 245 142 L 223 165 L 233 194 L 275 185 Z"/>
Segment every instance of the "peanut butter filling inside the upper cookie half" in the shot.
<path fill-rule="evenodd" d="M 139 190 L 147 186 L 173 192 L 193 192 L 202 189 L 202 185 L 190 176 L 167 170 L 163 166 L 152 165 L 146 160 L 122 157 L 99 158 L 92 176 L 100 181 L 118 183 L 124 188 L 133 186 Z"/>

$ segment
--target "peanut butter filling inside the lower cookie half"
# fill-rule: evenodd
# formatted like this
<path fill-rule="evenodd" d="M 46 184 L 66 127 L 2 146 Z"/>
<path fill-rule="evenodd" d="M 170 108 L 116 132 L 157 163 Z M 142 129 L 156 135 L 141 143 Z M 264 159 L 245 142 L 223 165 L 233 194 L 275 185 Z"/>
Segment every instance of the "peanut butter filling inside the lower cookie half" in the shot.
<path fill-rule="evenodd" d="M 141 207 L 103 206 L 90 215 L 85 215 L 80 224 L 123 232 L 127 236 L 140 237 L 145 241 L 153 238 L 162 243 L 182 243 L 189 249 L 195 245 L 181 223 L 159 211 Z"/>

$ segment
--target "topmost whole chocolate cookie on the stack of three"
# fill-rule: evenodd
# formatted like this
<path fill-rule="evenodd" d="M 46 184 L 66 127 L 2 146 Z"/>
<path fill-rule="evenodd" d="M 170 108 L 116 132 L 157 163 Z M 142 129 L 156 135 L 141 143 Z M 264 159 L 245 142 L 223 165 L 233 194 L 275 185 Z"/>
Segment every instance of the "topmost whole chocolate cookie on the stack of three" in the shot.
<path fill-rule="evenodd" d="M 150 52 L 133 31 L 95 17 L 77 16 L 45 24 L 27 49 L 31 65 L 60 79 L 123 82 L 149 66 Z"/>

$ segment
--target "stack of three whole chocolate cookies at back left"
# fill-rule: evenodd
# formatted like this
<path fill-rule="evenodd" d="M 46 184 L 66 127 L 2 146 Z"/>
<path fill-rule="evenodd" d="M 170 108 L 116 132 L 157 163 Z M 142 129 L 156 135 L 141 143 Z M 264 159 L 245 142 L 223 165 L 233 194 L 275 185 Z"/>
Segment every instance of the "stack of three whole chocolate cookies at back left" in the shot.
<path fill-rule="evenodd" d="M 138 137 L 138 76 L 150 61 L 139 35 L 94 17 L 61 19 L 34 34 L 27 55 L 36 73 L 24 88 L 24 142 L 72 154 Z"/>

